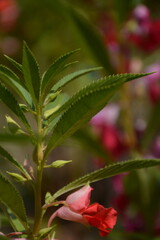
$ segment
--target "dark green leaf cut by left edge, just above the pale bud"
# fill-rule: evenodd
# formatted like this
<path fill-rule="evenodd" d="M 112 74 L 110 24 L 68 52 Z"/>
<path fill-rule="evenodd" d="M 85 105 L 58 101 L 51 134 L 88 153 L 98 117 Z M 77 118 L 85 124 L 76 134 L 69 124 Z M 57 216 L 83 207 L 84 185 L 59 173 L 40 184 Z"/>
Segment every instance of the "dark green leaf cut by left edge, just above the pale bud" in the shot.
<path fill-rule="evenodd" d="M 24 116 L 20 106 L 14 96 L 0 83 L 0 100 L 23 122 L 27 129 L 31 131 L 30 125 Z"/>

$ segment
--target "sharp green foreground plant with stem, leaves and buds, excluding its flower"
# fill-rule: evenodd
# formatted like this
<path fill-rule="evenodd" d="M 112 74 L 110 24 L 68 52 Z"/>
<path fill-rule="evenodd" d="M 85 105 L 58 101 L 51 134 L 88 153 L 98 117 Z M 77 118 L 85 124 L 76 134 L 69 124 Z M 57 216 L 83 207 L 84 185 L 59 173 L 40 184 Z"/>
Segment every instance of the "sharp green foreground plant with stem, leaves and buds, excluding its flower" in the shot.
<path fill-rule="evenodd" d="M 13 234 L 0 236 L 0 239 L 7 239 L 7 237 L 15 235 L 32 240 L 46 239 L 46 237 L 47 239 L 53 239 L 55 227 L 41 229 L 41 226 L 46 208 L 54 205 L 59 196 L 80 186 L 122 172 L 160 164 L 160 160 L 156 159 L 136 159 L 114 163 L 76 179 L 58 190 L 53 196 L 49 194 L 44 202 L 41 192 L 44 169 L 51 167 L 53 171 L 58 171 L 57 168 L 69 163 L 65 160 L 59 160 L 47 165 L 50 152 L 100 111 L 123 83 L 146 75 L 119 74 L 107 76 L 90 83 L 67 99 L 62 92 L 66 84 L 86 73 L 98 70 L 98 68 L 80 70 L 58 81 L 57 75 L 70 66 L 70 64 L 67 64 L 67 60 L 75 52 L 72 51 L 61 56 L 40 76 L 39 66 L 32 52 L 24 43 L 22 65 L 7 57 L 16 67 L 19 75 L 5 66 L 0 66 L 0 99 L 18 119 L 18 122 L 16 122 L 10 116 L 7 116 L 6 120 L 10 134 L 1 134 L 1 141 L 6 138 L 31 141 L 33 145 L 32 160 L 36 166 L 33 174 L 30 174 L 3 147 L 0 147 L 0 155 L 19 170 L 19 173 L 7 173 L 14 180 L 29 182 L 34 189 L 35 197 L 35 216 L 33 224 L 29 224 L 21 195 L 11 182 L 3 174 L 0 174 L 0 201 L 5 206 L 3 210 L 7 213 L 15 231 Z M 15 99 L 9 89 L 12 89 L 19 96 L 20 102 Z M 33 116 L 36 121 L 36 129 L 31 126 L 27 114 Z"/>

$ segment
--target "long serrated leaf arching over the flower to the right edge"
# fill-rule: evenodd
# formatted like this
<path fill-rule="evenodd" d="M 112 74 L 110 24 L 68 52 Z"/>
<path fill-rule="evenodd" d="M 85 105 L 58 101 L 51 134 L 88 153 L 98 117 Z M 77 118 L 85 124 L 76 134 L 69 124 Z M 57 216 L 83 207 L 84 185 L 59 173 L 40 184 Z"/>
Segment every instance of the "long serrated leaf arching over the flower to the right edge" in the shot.
<path fill-rule="evenodd" d="M 81 187 L 88 182 L 97 182 L 99 180 L 109 178 L 120 173 L 140 169 L 140 168 L 147 168 L 160 165 L 160 159 L 143 159 L 143 160 L 129 160 L 124 162 L 117 162 L 110 164 L 104 168 L 91 172 L 89 174 L 84 175 L 81 178 L 76 179 L 75 181 L 69 183 L 68 185 L 64 186 L 60 190 L 58 190 L 52 198 L 49 199 L 50 202 L 53 202 L 57 197 L 61 196 L 62 194 L 69 192 L 73 189 Z"/>

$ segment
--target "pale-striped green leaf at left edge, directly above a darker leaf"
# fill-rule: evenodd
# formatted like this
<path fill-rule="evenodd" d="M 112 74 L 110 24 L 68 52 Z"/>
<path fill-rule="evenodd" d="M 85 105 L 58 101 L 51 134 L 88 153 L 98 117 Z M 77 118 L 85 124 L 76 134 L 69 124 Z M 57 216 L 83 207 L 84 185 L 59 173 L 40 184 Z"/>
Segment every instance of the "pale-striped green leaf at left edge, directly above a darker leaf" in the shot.
<path fill-rule="evenodd" d="M 24 101 L 31 105 L 32 100 L 29 92 L 25 89 L 24 84 L 14 72 L 0 65 L 0 77 L 5 84 L 9 85 Z"/>

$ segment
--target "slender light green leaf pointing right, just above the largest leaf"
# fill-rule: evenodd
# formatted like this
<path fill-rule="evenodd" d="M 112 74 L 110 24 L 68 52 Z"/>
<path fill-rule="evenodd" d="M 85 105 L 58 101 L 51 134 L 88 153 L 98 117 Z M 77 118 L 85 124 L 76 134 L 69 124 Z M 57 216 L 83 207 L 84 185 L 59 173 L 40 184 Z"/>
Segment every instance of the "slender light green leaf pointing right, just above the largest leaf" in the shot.
<path fill-rule="evenodd" d="M 68 84 L 69 82 L 73 81 L 74 79 L 81 77 L 87 73 L 91 73 L 93 71 L 97 71 L 100 70 L 102 68 L 89 68 L 89 69 L 84 69 L 84 70 L 80 70 L 77 72 L 73 72 L 71 74 L 68 74 L 67 76 L 63 77 L 62 79 L 60 79 L 52 88 L 52 90 L 57 91 L 60 88 L 64 87 L 66 84 Z"/>

